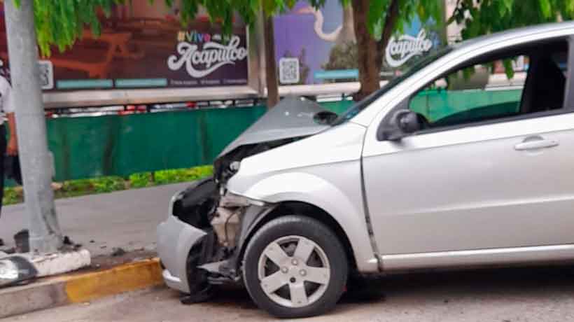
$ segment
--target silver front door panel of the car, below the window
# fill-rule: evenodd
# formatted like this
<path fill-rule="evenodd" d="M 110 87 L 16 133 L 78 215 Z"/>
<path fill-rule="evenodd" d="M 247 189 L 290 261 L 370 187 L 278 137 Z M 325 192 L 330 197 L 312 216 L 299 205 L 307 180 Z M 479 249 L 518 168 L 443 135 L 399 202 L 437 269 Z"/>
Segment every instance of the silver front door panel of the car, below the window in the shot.
<path fill-rule="evenodd" d="M 559 146 L 515 150 L 536 135 Z M 363 167 L 381 253 L 573 243 L 573 138 L 567 113 L 378 142 Z"/>

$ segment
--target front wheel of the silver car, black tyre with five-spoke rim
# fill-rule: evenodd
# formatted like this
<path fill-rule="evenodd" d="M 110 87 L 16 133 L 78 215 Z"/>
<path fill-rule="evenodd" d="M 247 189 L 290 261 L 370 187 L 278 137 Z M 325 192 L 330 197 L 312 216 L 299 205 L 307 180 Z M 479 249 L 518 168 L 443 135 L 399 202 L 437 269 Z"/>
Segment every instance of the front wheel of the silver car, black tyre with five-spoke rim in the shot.
<path fill-rule="evenodd" d="M 341 242 L 329 228 L 305 216 L 285 216 L 255 233 L 243 274 L 261 309 L 281 318 L 300 318 L 335 306 L 348 265 Z"/>

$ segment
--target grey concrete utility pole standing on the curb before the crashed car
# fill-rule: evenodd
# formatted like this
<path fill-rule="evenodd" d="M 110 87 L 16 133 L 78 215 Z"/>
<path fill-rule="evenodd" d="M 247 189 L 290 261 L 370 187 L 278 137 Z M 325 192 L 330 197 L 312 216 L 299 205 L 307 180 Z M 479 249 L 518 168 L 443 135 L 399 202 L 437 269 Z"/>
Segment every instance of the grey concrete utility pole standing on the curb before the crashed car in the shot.
<path fill-rule="evenodd" d="M 15 7 L 14 0 L 3 2 L 30 251 L 55 253 L 62 248 L 62 232 L 51 187 L 52 158 L 48 152 L 39 77 L 34 0 L 20 0 L 20 8 Z"/>

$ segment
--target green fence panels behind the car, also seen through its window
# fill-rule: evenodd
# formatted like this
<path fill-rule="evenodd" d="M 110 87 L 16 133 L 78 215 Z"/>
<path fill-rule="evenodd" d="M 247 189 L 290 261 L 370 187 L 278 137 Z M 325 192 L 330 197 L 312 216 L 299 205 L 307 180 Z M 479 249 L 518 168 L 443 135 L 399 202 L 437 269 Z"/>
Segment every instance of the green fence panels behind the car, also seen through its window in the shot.
<path fill-rule="evenodd" d="M 488 105 L 517 98 L 515 91 L 470 97 L 420 97 L 420 109 L 439 117 L 463 102 Z M 519 96 L 518 96 L 519 99 Z M 476 103 L 478 102 L 478 103 Z M 322 103 L 341 113 L 351 101 Z M 128 116 L 52 118 L 48 143 L 57 181 L 209 165 L 223 148 L 265 113 L 265 106 L 172 111 Z"/>

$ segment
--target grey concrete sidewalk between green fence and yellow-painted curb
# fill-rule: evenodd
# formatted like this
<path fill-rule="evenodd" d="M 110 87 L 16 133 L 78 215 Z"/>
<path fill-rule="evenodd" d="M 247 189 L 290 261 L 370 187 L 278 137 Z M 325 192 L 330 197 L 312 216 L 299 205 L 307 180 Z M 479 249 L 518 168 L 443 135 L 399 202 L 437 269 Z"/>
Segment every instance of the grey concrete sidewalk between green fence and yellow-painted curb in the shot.
<path fill-rule="evenodd" d="M 155 227 L 167 217 L 169 200 L 190 183 L 118 191 L 56 200 L 64 235 L 82 244 L 93 256 L 109 255 L 113 248 L 155 251 Z M 0 238 L 8 246 L 27 228 L 24 204 L 3 207 Z"/>

